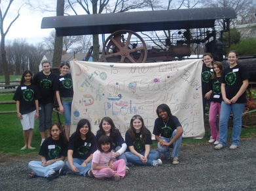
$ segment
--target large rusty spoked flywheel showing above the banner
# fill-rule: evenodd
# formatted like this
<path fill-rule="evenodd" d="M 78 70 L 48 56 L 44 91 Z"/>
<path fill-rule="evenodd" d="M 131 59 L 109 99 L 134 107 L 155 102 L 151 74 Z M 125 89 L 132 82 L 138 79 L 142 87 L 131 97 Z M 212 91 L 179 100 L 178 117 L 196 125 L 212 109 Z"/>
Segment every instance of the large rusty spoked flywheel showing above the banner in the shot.
<path fill-rule="evenodd" d="M 120 30 L 107 37 L 102 56 L 108 63 L 145 63 L 147 46 L 134 31 Z"/>

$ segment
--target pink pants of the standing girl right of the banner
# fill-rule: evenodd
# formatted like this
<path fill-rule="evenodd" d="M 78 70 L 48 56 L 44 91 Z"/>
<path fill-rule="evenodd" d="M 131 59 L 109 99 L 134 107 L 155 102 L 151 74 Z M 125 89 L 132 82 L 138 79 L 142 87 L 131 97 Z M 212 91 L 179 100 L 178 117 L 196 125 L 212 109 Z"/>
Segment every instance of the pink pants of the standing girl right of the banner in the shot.
<path fill-rule="evenodd" d="M 209 111 L 209 123 L 211 128 L 211 140 L 219 141 L 219 130 L 217 130 L 216 117 L 217 113 L 221 115 L 221 103 L 211 102 L 211 107 Z"/>

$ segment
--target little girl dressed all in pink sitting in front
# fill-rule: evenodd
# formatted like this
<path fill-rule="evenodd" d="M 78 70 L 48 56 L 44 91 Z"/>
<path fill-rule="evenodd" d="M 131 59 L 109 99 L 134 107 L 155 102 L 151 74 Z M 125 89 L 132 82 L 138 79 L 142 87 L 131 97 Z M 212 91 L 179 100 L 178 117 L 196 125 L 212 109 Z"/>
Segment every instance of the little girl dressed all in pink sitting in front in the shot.
<path fill-rule="evenodd" d="M 98 150 L 92 156 L 92 173 L 96 179 L 112 177 L 113 180 L 123 179 L 126 165 L 123 159 L 113 162 L 113 143 L 111 137 L 103 135 L 98 141 Z"/>

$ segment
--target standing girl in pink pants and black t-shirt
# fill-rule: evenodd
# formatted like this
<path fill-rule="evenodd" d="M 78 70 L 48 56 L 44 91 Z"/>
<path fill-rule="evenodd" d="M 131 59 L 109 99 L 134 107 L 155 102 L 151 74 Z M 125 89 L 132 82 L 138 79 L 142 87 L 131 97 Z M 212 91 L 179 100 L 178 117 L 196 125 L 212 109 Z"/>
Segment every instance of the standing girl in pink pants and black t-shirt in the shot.
<path fill-rule="evenodd" d="M 214 145 L 219 144 L 219 132 L 217 131 L 217 113 L 221 112 L 221 74 L 223 72 L 223 65 L 220 62 L 213 63 L 213 76 L 210 79 L 211 89 L 211 108 L 209 111 L 209 124 L 211 128 L 211 138 L 209 143 Z M 217 122 L 218 123 L 218 122 Z"/>

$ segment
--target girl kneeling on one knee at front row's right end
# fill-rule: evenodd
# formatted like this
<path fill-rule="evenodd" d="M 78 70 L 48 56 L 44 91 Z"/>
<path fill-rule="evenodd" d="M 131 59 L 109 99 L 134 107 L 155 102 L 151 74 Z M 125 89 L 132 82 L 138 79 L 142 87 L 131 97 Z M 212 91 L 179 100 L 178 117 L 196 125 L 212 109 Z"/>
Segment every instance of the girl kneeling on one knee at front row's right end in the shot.
<path fill-rule="evenodd" d="M 168 105 L 160 104 L 156 108 L 158 118 L 155 121 L 153 134 L 158 141 L 158 151 L 164 153 L 164 158 L 169 160 L 169 147 L 174 148 L 172 164 L 179 164 L 179 147 L 181 146 L 183 129 L 177 117 L 172 115 Z M 160 136 L 161 135 L 161 136 Z"/>

